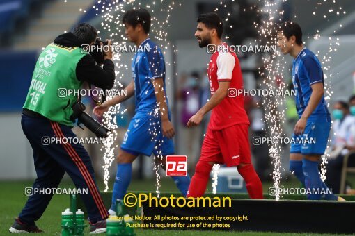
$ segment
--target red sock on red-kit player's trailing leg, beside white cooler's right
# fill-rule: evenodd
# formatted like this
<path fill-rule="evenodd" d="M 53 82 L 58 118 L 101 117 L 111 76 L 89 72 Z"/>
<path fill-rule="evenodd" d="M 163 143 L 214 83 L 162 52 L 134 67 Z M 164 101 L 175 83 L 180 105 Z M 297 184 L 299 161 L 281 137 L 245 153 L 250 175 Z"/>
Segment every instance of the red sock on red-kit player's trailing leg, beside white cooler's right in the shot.
<path fill-rule="evenodd" d="M 244 165 L 244 167 L 238 166 L 238 172 L 245 180 L 246 189 L 251 199 L 263 199 L 262 184 L 253 165 Z"/>

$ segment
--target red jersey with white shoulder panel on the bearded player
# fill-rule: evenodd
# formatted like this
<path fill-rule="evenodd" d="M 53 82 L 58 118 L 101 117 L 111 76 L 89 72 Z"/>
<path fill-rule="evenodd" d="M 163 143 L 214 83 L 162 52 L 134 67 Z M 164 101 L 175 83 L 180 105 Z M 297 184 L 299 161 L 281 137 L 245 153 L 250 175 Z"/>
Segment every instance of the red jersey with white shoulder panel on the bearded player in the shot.
<path fill-rule="evenodd" d="M 228 47 L 227 44 L 223 45 Z M 230 89 L 243 90 L 242 71 L 239 60 L 234 52 L 216 51 L 212 54 L 207 69 L 210 80 L 211 96 L 219 87 L 219 82 L 230 81 Z M 228 95 L 230 93 L 228 92 Z M 210 124 L 211 130 L 222 130 L 235 124 L 250 124 L 244 110 L 244 96 L 226 96 L 219 105 L 212 109 Z"/>

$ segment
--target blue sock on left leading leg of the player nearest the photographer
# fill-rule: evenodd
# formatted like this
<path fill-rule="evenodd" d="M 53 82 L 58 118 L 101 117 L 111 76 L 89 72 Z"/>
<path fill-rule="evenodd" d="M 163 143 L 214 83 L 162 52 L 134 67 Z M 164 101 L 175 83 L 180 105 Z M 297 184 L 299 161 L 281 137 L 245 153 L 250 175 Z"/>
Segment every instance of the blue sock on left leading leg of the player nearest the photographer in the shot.
<path fill-rule="evenodd" d="M 132 163 L 117 164 L 115 183 L 113 185 L 111 210 L 116 212 L 116 200 L 123 199 L 132 178 Z"/>

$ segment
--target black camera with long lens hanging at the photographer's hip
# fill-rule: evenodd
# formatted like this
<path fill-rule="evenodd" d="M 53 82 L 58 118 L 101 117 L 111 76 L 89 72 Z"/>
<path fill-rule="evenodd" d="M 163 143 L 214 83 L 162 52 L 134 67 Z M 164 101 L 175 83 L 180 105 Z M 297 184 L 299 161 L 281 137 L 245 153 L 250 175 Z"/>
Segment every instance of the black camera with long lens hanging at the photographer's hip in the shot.
<path fill-rule="evenodd" d="M 72 105 L 73 114 L 70 117 L 70 120 L 75 122 L 75 119 L 78 119 L 77 125 L 80 127 L 80 124 L 84 124 L 91 132 L 95 133 L 97 137 L 108 137 L 109 128 L 100 124 L 97 120 L 90 117 L 88 113 L 85 112 L 85 105 L 80 100 Z M 81 127 L 80 127 L 81 128 Z"/>

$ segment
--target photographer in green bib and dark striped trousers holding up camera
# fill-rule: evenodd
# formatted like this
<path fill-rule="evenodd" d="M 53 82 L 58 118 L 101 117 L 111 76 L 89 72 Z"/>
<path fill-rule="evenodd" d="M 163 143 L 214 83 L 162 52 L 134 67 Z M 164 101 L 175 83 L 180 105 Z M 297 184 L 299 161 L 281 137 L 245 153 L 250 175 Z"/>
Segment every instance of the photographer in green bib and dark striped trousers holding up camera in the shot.
<path fill-rule="evenodd" d="M 97 188 L 90 156 L 80 143 L 70 142 L 77 137 L 72 127 L 79 93 L 69 91 L 79 91 L 84 82 L 107 90 L 115 81 L 111 47 L 101 51 L 102 60 L 98 62 L 83 49 L 84 45 L 94 44 L 111 46 L 111 41 L 99 43 L 97 30 L 83 23 L 72 32 L 56 37 L 40 53 L 21 121 L 24 135 L 33 149 L 37 178 L 29 193 L 26 189 L 29 199 L 9 229 L 11 233 L 42 232 L 35 221 L 40 219 L 52 199 L 53 192 L 48 194 L 46 190 L 56 189 L 65 172 L 77 189 L 83 190 L 81 199 L 88 212 L 90 233 L 106 232 L 105 219 L 109 214 Z M 85 114 L 90 122 L 99 124 Z"/>

